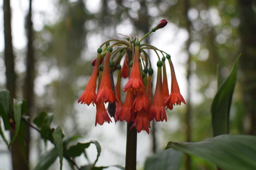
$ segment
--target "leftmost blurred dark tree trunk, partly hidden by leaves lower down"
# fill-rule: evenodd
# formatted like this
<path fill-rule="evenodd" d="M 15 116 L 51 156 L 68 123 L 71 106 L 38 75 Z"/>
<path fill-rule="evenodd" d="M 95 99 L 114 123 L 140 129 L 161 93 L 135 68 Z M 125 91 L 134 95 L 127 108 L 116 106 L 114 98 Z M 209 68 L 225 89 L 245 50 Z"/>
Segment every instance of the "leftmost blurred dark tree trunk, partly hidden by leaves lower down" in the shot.
<path fill-rule="evenodd" d="M 5 66 L 7 89 L 10 91 L 11 99 L 15 98 L 15 81 L 16 75 L 14 71 L 14 55 L 12 48 L 12 30 L 11 30 L 11 7 L 10 0 L 4 0 L 4 36 L 5 36 Z M 12 100 L 11 100 L 12 102 Z M 14 135 L 14 130 L 10 130 L 11 138 Z M 12 167 L 13 170 L 26 170 L 26 165 L 23 154 L 20 150 L 18 140 L 15 140 L 11 145 Z"/>

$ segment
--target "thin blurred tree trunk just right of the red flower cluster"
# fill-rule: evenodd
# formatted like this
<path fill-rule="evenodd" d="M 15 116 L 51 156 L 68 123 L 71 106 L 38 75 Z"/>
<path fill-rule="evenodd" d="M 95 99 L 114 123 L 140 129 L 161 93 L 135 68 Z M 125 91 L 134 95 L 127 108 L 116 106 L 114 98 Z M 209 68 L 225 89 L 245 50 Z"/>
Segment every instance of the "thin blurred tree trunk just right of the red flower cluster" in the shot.
<path fill-rule="evenodd" d="M 186 117 L 185 117 L 185 123 L 186 123 L 186 142 L 191 141 L 191 125 L 190 125 L 190 117 L 191 117 L 191 106 L 190 106 L 190 75 L 191 75 L 191 69 L 190 69 L 190 63 L 191 63 L 191 56 L 188 51 L 189 45 L 190 45 L 190 26 L 191 22 L 188 18 L 188 10 L 190 8 L 190 2 L 189 0 L 184 0 L 184 11 L 183 15 L 185 17 L 185 27 L 188 32 L 188 39 L 185 42 L 184 49 L 187 51 L 188 54 L 188 60 L 187 60 L 187 99 L 186 99 Z M 191 157 L 189 155 L 186 155 L 186 170 L 191 169 Z"/>

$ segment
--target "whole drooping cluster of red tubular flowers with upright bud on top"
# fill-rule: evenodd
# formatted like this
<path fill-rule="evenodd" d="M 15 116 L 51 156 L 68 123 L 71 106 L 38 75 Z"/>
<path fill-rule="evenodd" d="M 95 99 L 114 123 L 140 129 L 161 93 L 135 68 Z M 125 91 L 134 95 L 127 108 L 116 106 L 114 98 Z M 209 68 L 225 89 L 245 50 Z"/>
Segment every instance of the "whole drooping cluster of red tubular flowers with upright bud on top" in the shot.
<path fill-rule="evenodd" d="M 78 103 L 81 102 L 88 106 L 96 105 L 95 126 L 103 125 L 104 122 L 112 122 L 110 114 L 115 118 L 115 122 L 118 120 L 132 122 L 131 128 L 137 128 L 138 133 L 142 130 L 149 133 L 148 128 L 153 119 L 157 122 L 167 121 L 165 108 L 172 110 L 175 105 L 185 104 L 180 94 L 170 55 L 153 45 L 141 43 L 148 34 L 165 27 L 166 24 L 167 21 L 162 19 L 151 32 L 140 40 L 130 35 L 126 36 L 127 39 L 108 40 L 98 48 L 98 55 L 92 62 L 94 66 L 92 76 L 78 100 Z M 158 56 L 157 82 L 153 94 L 151 81 L 154 70 L 148 54 L 149 50 L 153 50 Z M 124 59 L 122 60 L 122 58 Z M 166 59 L 171 71 L 170 93 L 166 76 Z M 121 60 L 123 61 L 122 66 L 120 65 Z M 116 83 L 113 80 L 114 71 L 117 71 Z M 123 87 L 126 96 L 122 103 L 120 85 L 121 79 L 126 78 L 129 80 Z M 109 103 L 107 109 L 104 103 Z"/>

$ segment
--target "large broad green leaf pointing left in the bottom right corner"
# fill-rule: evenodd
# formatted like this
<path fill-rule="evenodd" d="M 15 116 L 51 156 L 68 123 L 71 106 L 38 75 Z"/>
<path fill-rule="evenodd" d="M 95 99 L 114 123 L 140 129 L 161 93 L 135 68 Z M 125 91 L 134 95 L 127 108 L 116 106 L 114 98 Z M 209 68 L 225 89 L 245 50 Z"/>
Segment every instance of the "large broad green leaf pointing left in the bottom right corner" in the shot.
<path fill-rule="evenodd" d="M 220 135 L 201 142 L 168 142 L 173 148 L 216 164 L 222 170 L 256 169 L 256 136 Z"/>

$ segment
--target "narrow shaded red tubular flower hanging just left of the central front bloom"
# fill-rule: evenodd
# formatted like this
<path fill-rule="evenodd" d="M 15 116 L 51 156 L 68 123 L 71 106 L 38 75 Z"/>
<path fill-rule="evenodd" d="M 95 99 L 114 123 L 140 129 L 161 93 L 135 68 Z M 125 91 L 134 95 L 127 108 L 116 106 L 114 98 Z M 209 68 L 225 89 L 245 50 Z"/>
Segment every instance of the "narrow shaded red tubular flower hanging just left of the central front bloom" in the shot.
<path fill-rule="evenodd" d="M 116 82 L 116 98 L 118 103 L 116 103 L 116 112 L 115 112 L 115 122 L 117 122 L 119 113 L 123 107 L 123 104 L 121 102 L 121 95 L 120 95 L 120 85 L 121 85 L 121 66 L 120 64 L 117 65 L 118 69 L 118 75 L 117 75 L 117 82 Z"/>

